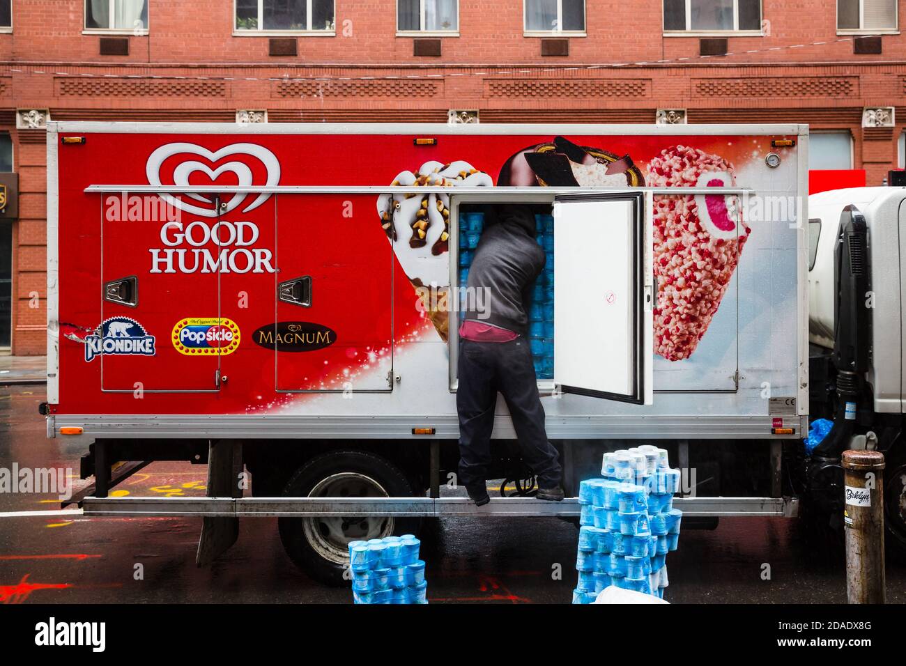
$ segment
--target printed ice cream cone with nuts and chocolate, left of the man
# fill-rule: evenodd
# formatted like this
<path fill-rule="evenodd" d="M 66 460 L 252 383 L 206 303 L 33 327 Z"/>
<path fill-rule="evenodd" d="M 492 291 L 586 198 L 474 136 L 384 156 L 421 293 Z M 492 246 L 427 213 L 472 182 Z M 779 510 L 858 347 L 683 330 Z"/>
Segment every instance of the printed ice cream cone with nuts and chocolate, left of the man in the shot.
<path fill-rule="evenodd" d="M 490 187 L 487 173 L 459 160 L 449 164 L 425 162 L 401 171 L 391 185 L 455 188 Z M 385 194 L 378 198 L 381 227 L 415 289 L 419 309 L 429 317 L 443 340 L 449 334 L 449 197 L 445 194 Z"/>

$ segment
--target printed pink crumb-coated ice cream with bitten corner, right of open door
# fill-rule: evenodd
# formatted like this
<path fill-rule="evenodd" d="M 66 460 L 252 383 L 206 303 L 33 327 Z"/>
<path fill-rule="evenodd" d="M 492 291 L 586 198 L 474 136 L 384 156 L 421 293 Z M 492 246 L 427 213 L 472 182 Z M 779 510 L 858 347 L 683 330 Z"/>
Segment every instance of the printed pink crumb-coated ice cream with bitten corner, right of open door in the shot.
<path fill-rule="evenodd" d="M 732 187 L 726 159 L 689 146 L 661 150 L 651 159 L 652 187 Z M 668 361 L 688 359 L 708 331 L 727 292 L 751 229 L 736 195 L 670 194 L 654 197 L 654 350 Z"/>

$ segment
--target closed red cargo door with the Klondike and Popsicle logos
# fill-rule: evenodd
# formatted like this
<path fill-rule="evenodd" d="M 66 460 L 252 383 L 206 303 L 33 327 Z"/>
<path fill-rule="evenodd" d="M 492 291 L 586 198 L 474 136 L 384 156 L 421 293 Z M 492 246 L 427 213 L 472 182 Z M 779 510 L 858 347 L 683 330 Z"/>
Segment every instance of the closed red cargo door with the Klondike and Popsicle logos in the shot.
<path fill-rule="evenodd" d="M 85 342 L 102 391 L 218 390 L 220 354 L 238 343 L 220 318 L 218 221 L 157 195 L 102 195 L 101 324 Z"/>

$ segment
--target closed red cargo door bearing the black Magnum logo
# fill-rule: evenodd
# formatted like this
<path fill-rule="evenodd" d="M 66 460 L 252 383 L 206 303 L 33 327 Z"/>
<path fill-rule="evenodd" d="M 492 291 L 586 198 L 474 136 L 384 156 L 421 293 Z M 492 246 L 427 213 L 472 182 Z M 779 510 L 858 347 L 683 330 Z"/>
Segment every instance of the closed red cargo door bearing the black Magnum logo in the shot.
<path fill-rule="evenodd" d="M 373 195 L 277 198 L 276 390 L 390 391 L 393 247 Z"/>

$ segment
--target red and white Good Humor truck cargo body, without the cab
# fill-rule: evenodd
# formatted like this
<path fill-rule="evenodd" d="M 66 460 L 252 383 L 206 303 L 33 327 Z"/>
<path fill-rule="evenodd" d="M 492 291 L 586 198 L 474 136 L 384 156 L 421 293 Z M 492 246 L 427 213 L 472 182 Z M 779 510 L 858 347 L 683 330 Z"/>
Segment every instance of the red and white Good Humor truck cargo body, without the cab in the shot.
<path fill-rule="evenodd" d="M 335 582 L 352 539 L 573 519 L 602 452 L 642 442 L 683 470 L 688 517 L 798 512 L 805 125 L 52 122 L 47 140 L 42 410 L 83 449 L 87 515 L 202 516 L 199 564 L 239 517 L 278 516 L 294 562 Z M 485 215 L 512 204 L 547 257 L 529 343 L 568 498 L 532 497 L 498 401 L 493 477 L 516 490 L 474 507 L 446 489 L 458 319 L 482 308 Z M 207 464 L 207 497 L 111 496 L 157 460 Z"/>

